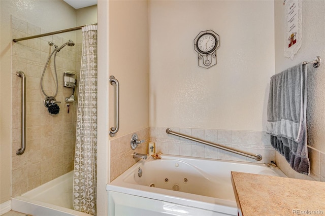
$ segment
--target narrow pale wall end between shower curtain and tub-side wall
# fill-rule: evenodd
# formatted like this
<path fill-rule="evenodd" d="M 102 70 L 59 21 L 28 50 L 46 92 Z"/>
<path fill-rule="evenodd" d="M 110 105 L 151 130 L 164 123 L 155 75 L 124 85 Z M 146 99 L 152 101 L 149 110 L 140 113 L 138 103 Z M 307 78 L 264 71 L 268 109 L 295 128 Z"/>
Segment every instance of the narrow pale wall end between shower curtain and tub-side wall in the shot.
<path fill-rule="evenodd" d="M 109 114 L 109 2 L 98 1 L 98 145 L 97 145 L 97 214 L 107 215 L 108 200 L 106 184 L 109 181 L 109 139 L 108 139 L 108 114 Z"/>

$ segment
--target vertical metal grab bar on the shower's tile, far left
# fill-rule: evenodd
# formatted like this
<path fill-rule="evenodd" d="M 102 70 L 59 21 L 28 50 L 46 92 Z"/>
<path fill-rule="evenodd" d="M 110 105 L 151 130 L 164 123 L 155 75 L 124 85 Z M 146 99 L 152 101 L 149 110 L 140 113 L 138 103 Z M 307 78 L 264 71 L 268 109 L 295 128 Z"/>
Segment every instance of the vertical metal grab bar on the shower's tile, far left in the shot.
<path fill-rule="evenodd" d="M 21 148 L 16 151 L 16 155 L 22 155 L 25 151 L 26 145 L 26 76 L 23 71 L 16 71 L 17 77 L 22 78 L 21 83 L 21 100 L 22 100 L 22 115 L 21 115 Z"/>

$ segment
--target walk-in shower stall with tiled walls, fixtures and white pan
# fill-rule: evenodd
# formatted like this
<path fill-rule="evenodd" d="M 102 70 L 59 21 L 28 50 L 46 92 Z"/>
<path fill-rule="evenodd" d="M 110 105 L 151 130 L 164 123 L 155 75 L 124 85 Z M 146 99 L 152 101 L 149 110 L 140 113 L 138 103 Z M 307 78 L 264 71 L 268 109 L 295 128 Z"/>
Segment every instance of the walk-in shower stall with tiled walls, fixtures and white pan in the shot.
<path fill-rule="evenodd" d="M 41 30 L 12 17 L 13 38 L 19 38 L 21 23 L 27 31 Z M 25 125 L 21 80 L 12 78 L 12 209 L 32 215 L 89 215 L 72 203 L 82 43 L 71 40 L 71 33 L 61 35 L 12 44 L 12 74 L 20 68 L 26 76 Z M 17 155 L 23 138 L 25 152 Z"/>

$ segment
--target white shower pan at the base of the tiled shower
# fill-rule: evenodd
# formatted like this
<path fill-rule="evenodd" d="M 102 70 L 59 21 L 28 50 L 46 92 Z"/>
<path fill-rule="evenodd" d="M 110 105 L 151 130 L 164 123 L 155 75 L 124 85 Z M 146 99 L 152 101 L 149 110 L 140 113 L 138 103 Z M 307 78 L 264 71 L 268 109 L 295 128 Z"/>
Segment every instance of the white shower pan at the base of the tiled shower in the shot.
<path fill-rule="evenodd" d="M 12 209 L 32 216 L 89 216 L 73 210 L 73 171 L 12 198 Z"/>

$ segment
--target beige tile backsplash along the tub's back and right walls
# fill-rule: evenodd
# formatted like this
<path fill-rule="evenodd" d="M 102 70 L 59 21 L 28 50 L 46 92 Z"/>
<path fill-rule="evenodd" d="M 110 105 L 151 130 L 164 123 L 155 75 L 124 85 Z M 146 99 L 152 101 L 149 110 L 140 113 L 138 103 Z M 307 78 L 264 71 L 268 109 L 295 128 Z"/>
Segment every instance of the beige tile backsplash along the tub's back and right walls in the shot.
<path fill-rule="evenodd" d="M 272 148 L 270 145 L 270 135 L 266 134 L 265 131 L 171 128 L 174 132 L 263 156 L 262 161 L 255 161 L 251 158 L 167 134 L 166 129 L 167 127 L 150 127 L 150 141 L 155 142 L 156 151 L 158 152 L 171 155 L 254 163 L 270 163 L 271 161 L 275 161 L 278 167 L 288 177 L 325 182 L 325 154 L 308 147 L 311 174 L 309 176 L 300 174 L 293 170 L 284 157 Z"/>

